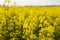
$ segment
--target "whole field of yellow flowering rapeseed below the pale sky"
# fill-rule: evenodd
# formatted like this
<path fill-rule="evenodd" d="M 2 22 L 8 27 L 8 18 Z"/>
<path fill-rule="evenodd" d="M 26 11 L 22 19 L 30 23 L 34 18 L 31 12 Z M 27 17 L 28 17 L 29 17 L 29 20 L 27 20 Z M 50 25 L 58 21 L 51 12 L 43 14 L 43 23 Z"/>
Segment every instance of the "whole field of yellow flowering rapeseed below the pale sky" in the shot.
<path fill-rule="evenodd" d="M 60 40 L 60 6 L 0 6 L 0 40 Z"/>

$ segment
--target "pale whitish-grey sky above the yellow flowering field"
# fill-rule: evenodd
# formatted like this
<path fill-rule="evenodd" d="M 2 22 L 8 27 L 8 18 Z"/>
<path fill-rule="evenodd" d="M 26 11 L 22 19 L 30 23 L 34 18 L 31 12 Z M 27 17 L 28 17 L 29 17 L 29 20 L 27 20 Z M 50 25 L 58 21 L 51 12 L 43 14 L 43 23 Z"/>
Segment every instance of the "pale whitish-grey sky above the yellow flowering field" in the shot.
<path fill-rule="evenodd" d="M 60 5 L 60 0 L 11 0 L 10 5 L 16 2 L 18 6 L 25 5 Z M 0 5 L 3 5 L 4 0 L 0 0 Z M 7 4 L 7 3 L 6 3 Z"/>

